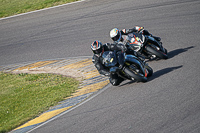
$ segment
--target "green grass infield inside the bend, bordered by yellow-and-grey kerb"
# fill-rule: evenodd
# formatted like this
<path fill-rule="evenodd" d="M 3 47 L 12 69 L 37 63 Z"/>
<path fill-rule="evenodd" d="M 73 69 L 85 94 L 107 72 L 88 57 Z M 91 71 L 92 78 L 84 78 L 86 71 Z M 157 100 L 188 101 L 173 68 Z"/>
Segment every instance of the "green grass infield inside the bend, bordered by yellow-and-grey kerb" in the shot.
<path fill-rule="evenodd" d="M 78 89 L 75 79 L 53 74 L 0 73 L 0 133 L 11 131 Z"/>

